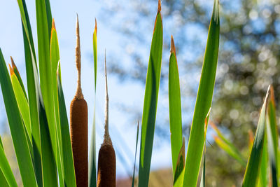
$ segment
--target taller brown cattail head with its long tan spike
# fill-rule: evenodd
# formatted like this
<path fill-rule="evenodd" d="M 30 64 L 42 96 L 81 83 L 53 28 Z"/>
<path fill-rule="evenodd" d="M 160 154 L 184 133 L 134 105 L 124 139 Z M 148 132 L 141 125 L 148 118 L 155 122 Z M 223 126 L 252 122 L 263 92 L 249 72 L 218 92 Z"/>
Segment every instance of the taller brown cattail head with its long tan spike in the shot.
<path fill-rule="evenodd" d="M 77 15 L 76 66 L 78 69 L 78 86 L 76 95 L 70 105 L 70 134 L 77 187 L 87 186 L 87 102 L 83 99 L 80 88 L 80 36 Z"/>

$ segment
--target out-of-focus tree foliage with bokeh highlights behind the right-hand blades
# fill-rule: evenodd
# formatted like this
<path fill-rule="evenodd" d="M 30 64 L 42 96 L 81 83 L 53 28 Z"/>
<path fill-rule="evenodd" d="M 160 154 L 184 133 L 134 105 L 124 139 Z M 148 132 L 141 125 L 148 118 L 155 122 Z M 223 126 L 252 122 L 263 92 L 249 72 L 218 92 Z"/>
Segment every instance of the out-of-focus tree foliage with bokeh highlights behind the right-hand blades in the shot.
<path fill-rule="evenodd" d="M 114 55 L 111 71 L 120 80 L 131 78 L 145 83 L 148 46 L 151 43 L 157 1 L 110 1 L 106 11 L 122 22 L 110 20 L 123 33 L 127 60 Z M 280 93 L 280 1 L 221 0 L 221 42 L 216 75 L 216 90 L 211 119 L 244 154 L 248 155 L 248 130 L 255 132 L 260 106 L 269 84 L 274 86 L 276 103 Z M 169 40 L 173 34 L 179 62 L 184 132 L 188 136 L 198 80 L 207 40 L 213 1 L 162 1 L 164 53 L 162 57 L 161 94 L 168 95 Z M 125 11 L 125 14 L 123 13 Z M 110 14 L 108 15 L 110 16 Z M 278 106 L 276 104 L 276 106 Z M 167 102 L 168 109 L 168 102 Z M 279 111 L 279 107 L 277 107 Z M 161 112 L 161 111 L 160 111 Z M 158 113 L 160 113 L 158 112 Z M 165 112 L 168 112 L 165 110 Z M 165 113 L 164 116 L 168 116 Z M 279 113 L 277 113 L 279 117 Z M 279 119 L 279 118 L 278 118 Z M 158 118 L 157 118 L 158 120 Z M 165 124 L 169 125 L 168 117 Z M 279 121 L 279 120 L 278 120 Z M 158 125 L 159 126 L 159 125 Z M 169 129 L 167 126 L 160 127 Z M 211 131 L 210 131 L 211 132 Z M 211 139 L 211 137 L 209 137 Z M 215 144 L 207 148 L 207 186 L 240 186 L 244 168 Z"/>

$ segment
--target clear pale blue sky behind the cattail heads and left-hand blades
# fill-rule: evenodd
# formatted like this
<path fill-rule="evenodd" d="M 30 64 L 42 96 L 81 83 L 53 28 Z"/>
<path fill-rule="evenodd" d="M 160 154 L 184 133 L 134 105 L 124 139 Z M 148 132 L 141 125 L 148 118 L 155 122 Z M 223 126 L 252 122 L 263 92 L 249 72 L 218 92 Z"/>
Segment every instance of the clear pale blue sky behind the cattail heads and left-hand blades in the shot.
<path fill-rule="evenodd" d="M 76 13 L 80 22 L 80 45 L 82 58 L 82 89 L 88 105 L 89 111 L 89 132 L 92 128 L 92 116 L 94 106 L 94 70 L 92 58 L 92 33 L 94 29 L 94 18 L 97 18 L 97 48 L 98 48 L 98 74 L 97 74 L 97 153 L 104 133 L 104 49 L 106 54 L 122 54 L 126 53 L 121 47 L 122 36 L 113 30 L 102 19 L 106 12 L 104 6 L 110 6 L 111 1 L 50 1 L 52 8 L 52 17 L 55 18 L 55 25 L 58 34 L 59 50 L 62 66 L 62 86 L 64 89 L 64 97 L 66 106 L 69 106 L 73 95 L 76 92 L 76 65 L 75 65 L 75 46 L 76 46 Z M 31 28 L 34 34 L 35 46 L 37 46 L 36 38 L 36 10 L 35 2 L 27 1 Z M 156 13 L 155 8 L 155 13 Z M 99 19 L 100 18 L 100 19 Z M 116 18 L 111 18 L 111 20 Z M 100 20 L 100 21 L 99 21 Z M 154 20 L 151 20 L 151 27 Z M 0 3 L 0 48 L 3 52 L 6 63 L 10 63 L 10 56 L 15 60 L 22 79 L 26 85 L 25 74 L 25 55 L 22 39 L 22 27 L 20 23 L 20 11 L 17 1 L 1 1 Z M 147 37 L 152 38 L 153 30 L 147 32 Z M 132 43 L 132 48 L 137 48 L 136 43 Z M 148 53 L 150 44 L 144 53 Z M 36 51 L 37 53 L 38 51 Z M 110 59 L 110 58 L 109 58 Z M 107 58 L 107 64 L 110 60 Z M 148 55 L 146 55 L 148 64 Z M 130 65 L 128 60 L 125 62 Z M 143 72 L 146 74 L 146 72 Z M 108 75 L 109 81 L 109 130 L 113 140 L 113 146 L 120 152 L 125 160 L 126 165 L 120 160 L 117 154 L 117 174 L 118 176 L 126 176 L 127 170 L 132 173 L 134 162 L 134 150 L 136 141 L 136 123 L 131 124 L 130 114 L 120 109 L 120 105 L 129 104 L 134 106 L 136 111 L 141 111 L 144 99 L 144 87 L 141 83 L 125 81 L 120 83 L 116 76 Z M 161 101 L 161 102 L 160 102 Z M 161 104 L 168 104 L 168 101 L 159 97 L 159 107 Z M 69 107 L 67 109 L 69 113 Z M 139 113 L 141 116 L 141 113 Z M 6 121 L 6 112 L 3 105 L 3 97 L 0 97 L 0 122 Z M 0 126 L 1 127 L 1 126 Z M 0 129 L 1 132 L 1 129 Z M 90 141 L 89 133 L 89 141 Z M 125 141 L 125 144 L 123 143 Z M 160 145 L 160 146 L 157 146 Z M 138 152 L 139 155 L 139 152 Z M 155 136 L 152 169 L 170 167 L 171 166 L 171 150 L 168 141 L 161 141 Z M 139 156 L 137 156 L 137 165 Z"/>

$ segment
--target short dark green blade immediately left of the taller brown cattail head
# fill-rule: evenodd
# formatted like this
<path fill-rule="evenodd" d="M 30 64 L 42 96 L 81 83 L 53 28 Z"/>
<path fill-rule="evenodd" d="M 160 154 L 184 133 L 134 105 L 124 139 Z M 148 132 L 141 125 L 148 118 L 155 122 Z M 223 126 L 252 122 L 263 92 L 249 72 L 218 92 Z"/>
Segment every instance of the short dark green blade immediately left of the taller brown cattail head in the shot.
<path fill-rule="evenodd" d="M 64 183 L 65 186 L 75 187 L 76 186 L 76 177 L 75 169 L 73 164 L 73 153 L 70 141 L 69 133 L 69 123 L 67 119 L 66 106 L 64 102 L 64 95 L 62 90 L 62 85 L 60 81 L 60 76 L 57 76 L 57 90 L 58 90 L 58 101 L 59 101 L 59 120 L 61 125 L 61 137 L 62 137 L 62 163 L 63 163 L 63 172 L 64 172 Z"/>

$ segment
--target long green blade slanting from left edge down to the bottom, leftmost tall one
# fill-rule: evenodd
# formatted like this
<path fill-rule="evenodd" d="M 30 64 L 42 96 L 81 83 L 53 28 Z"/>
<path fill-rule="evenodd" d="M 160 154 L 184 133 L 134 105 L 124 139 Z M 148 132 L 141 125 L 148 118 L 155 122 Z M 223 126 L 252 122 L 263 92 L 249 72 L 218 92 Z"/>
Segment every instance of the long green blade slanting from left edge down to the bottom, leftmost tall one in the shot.
<path fill-rule="evenodd" d="M 18 104 L 13 92 L 13 86 L 8 75 L 6 62 L 0 49 L 0 83 L 3 94 L 3 100 L 6 107 L 10 134 L 13 139 L 15 155 L 18 160 L 22 183 L 25 186 L 37 186 L 34 169 L 27 144 L 24 125 L 18 109 Z"/>

